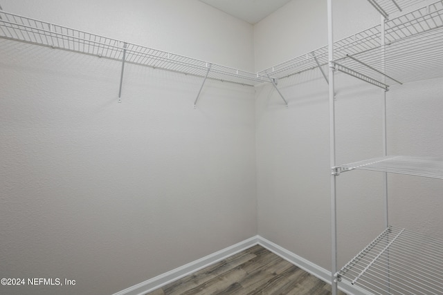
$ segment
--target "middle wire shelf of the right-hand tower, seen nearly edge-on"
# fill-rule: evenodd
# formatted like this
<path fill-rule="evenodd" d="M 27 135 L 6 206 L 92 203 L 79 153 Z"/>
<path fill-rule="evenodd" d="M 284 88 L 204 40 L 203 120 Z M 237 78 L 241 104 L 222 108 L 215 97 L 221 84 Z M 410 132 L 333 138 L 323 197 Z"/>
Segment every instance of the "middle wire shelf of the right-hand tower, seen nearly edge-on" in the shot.
<path fill-rule="evenodd" d="M 336 169 L 339 173 L 359 169 L 443 179 L 443 158 L 386 156 L 339 165 Z"/>

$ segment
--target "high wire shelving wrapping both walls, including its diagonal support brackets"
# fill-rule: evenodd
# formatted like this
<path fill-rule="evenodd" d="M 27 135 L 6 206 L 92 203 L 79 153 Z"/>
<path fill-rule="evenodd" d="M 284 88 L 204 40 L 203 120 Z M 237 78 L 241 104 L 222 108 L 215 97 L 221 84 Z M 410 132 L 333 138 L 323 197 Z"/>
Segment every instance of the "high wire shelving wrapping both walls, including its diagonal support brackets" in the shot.
<path fill-rule="evenodd" d="M 356 53 L 379 46 L 379 28 L 374 27 L 340 41 L 336 41 L 336 50 L 343 54 Z M 203 77 L 203 87 L 206 79 L 217 79 L 222 82 L 231 82 L 245 86 L 257 86 L 262 83 L 271 83 L 287 105 L 287 100 L 280 93 L 278 79 L 302 73 L 305 70 L 319 68 L 326 82 L 328 82 L 325 66 L 328 64 L 327 46 L 323 46 L 311 53 L 285 61 L 258 73 L 249 73 L 244 70 L 213 64 L 183 55 L 168 53 L 162 50 L 149 48 L 127 41 L 112 39 L 91 32 L 84 32 L 66 26 L 60 26 L 47 21 L 31 19 L 21 15 L 0 10 L 0 37 L 39 46 L 46 46 L 75 53 L 94 55 L 106 59 L 122 62 L 120 75 L 119 102 L 122 94 L 123 74 L 125 64 L 137 64 L 151 68 L 170 70 L 176 73 Z M 201 88 L 195 99 L 195 106 L 201 93 Z"/>

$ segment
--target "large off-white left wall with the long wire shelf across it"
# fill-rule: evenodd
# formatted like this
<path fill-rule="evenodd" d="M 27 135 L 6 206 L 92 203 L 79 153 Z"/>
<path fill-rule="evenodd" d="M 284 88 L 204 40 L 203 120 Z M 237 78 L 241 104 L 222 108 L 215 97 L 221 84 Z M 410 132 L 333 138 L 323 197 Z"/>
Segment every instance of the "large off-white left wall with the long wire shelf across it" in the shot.
<path fill-rule="evenodd" d="M 1 4 L 253 68 L 252 27 L 198 1 Z M 112 294 L 255 236 L 253 88 L 208 81 L 194 110 L 201 78 L 128 64 L 118 104 L 119 62 L 0 42 L 0 274 L 76 280 L 1 294 Z"/>

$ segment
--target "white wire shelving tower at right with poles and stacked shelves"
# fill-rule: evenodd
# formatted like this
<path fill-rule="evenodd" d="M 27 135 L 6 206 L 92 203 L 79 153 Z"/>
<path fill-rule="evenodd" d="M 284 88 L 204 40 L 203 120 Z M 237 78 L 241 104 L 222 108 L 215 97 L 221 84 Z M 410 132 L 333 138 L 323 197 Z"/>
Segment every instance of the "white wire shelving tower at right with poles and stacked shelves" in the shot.
<path fill-rule="evenodd" d="M 367 294 L 443 294 L 443 240 L 399 229 L 386 229 L 341 269 L 337 265 L 336 177 L 354 169 L 400 173 L 443 179 L 443 158 L 387 155 L 386 91 L 392 84 L 443 77 L 443 1 L 368 0 L 382 15 L 375 31 L 379 45 L 343 55 L 336 50 L 332 30 L 332 0 L 329 22 L 329 110 L 332 207 L 332 293 L 339 282 Z M 404 12 L 410 6 L 422 6 Z M 392 13 L 401 14 L 392 19 Z M 361 40 L 365 43 L 365 40 Z M 364 48 L 365 44 L 357 45 Z M 380 158 L 336 164 L 334 73 L 351 75 L 385 90 L 383 118 L 384 153 Z M 387 181 L 387 180 L 386 180 Z"/>

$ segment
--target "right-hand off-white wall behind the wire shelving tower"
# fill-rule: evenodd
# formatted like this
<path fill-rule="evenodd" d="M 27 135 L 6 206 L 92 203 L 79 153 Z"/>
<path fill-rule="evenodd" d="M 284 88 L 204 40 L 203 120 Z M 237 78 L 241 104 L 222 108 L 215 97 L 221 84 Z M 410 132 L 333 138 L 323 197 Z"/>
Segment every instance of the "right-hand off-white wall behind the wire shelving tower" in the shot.
<path fill-rule="evenodd" d="M 357 12 L 361 13 L 357 13 Z M 334 37 L 375 26 L 367 1 L 334 1 Z M 293 0 L 254 28 L 255 66 L 267 68 L 327 44 L 327 1 Z M 325 70 L 327 68 L 325 67 Z M 329 108 L 319 70 L 257 88 L 258 233 L 331 268 Z M 438 155 L 443 148 L 442 79 L 392 86 L 388 92 L 388 153 Z M 338 163 L 382 155 L 383 91 L 336 75 Z M 442 236 L 442 182 L 390 175 L 390 223 Z M 383 229 L 379 173 L 352 171 L 337 179 L 338 258 L 343 265 Z"/>

